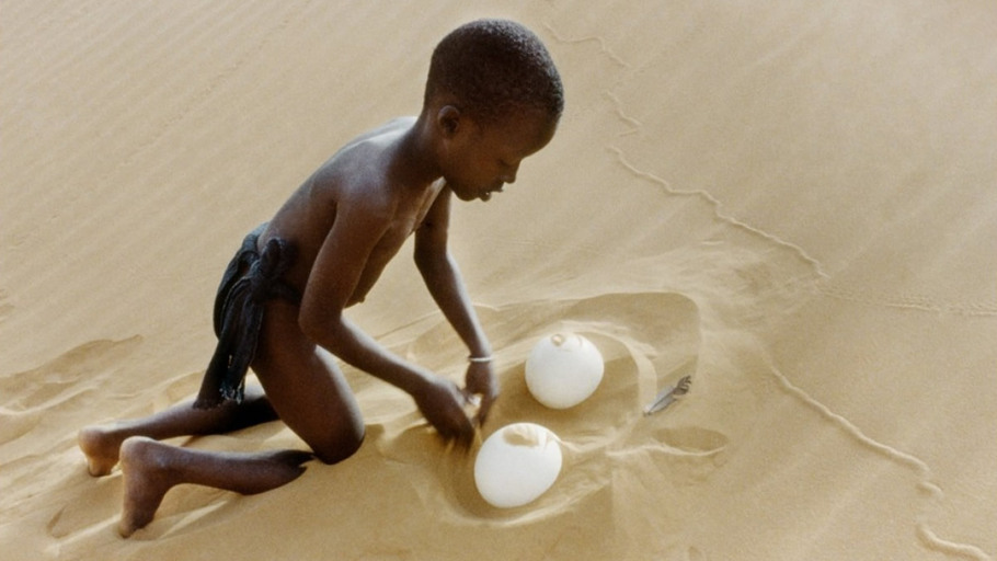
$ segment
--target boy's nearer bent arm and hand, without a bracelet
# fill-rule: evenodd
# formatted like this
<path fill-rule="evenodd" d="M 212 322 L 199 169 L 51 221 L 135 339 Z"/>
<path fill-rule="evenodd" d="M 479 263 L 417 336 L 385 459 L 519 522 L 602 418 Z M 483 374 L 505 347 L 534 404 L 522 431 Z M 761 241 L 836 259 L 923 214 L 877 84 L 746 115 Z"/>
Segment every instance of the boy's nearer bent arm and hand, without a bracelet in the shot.
<path fill-rule="evenodd" d="M 411 394 L 440 435 L 470 442 L 473 426 L 457 385 L 389 353 L 343 313 L 388 224 L 377 209 L 365 205 L 340 207 L 312 265 L 298 323 L 307 336 L 341 359 Z"/>

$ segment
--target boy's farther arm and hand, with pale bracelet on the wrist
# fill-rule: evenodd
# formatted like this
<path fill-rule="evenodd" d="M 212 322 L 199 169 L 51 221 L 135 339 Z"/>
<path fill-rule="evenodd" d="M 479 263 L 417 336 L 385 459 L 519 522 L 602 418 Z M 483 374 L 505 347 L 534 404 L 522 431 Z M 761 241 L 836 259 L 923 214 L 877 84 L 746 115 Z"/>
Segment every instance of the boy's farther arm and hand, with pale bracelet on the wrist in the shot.
<path fill-rule="evenodd" d="M 416 229 L 415 264 L 444 317 L 468 346 L 470 356 L 489 358 L 492 355 L 491 344 L 478 321 L 457 263 L 447 250 L 450 198 L 449 188 L 444 187 L 423 224 Z M 499 397 L 499 385 L 491 360 L 470 362 L 465 382 L 465 391 L 469 396 L 481 396 L 477 421 L 483 423 Z"/>

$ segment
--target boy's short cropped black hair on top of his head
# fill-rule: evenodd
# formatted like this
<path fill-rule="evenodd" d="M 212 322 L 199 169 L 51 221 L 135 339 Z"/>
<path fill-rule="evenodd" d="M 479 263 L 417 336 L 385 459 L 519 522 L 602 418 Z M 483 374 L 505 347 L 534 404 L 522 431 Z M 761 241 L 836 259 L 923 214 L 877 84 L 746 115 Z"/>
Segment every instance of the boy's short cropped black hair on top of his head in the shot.
<path fill-rule="evenodd" d="M 452 98 L 457 108 L 494 121 L 524 108 L 553 121 L 564 108 L 561 76 L 534 32 L 507 20 L 478 20 L 450 32 L 433 51 L 425 103 Z"/>

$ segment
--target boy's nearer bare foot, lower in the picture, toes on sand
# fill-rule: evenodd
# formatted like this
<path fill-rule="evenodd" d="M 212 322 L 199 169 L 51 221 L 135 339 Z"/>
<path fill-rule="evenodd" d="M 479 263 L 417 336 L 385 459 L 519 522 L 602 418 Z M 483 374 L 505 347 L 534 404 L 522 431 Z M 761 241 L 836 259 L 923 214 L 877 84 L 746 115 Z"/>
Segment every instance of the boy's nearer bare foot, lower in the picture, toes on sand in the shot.
<path fill-rule="evenodd" d="M 152 522 L 163 495 L 175 484 L 163 465 L 164 448 L 168 446 L 145 436 L 133 436 L 122 443 L 125 501 L 118 533 L 125 538 Z"/>

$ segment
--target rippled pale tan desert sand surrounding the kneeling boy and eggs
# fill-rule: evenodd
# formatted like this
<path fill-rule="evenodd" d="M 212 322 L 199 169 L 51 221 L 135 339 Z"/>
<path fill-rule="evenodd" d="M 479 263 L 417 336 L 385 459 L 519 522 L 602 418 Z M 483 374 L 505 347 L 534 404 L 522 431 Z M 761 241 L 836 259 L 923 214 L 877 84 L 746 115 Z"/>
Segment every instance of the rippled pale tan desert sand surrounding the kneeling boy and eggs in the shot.
<path fill-rule="evenodd" d="M 355 134 L 419 111 L 436 41 L 517 19 L 568 106 L 452 251 L 518 421 L 563 440 L 537 502 L 347 369 L 368 437 L 255 496 L 181 486 L 115 533 L 87 424 L 192 396 L 242 234 Z M 997 8 L 989 2 L 0 4 L 0 547 L 7 560 L 994 559 Z M 402 255 L 408 250 L 402 250 Z M 401 257 L 352 318 L 458 379 Z M 606 377 L 547 410 L 532 343 Z M 642 408 L 691 375 L 691 391 Z M 301 448 L 279 423 L 177 439 Z"/>

